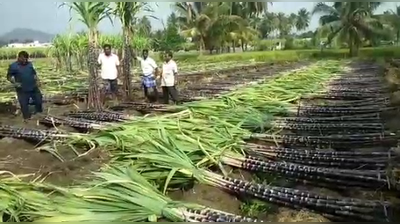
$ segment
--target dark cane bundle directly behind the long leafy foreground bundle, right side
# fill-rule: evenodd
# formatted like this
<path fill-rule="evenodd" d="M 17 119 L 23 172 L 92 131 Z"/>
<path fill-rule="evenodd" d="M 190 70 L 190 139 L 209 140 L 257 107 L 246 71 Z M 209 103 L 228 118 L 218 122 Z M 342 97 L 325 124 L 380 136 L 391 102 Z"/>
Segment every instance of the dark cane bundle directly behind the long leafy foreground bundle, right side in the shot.
<path fill-rule="evenodd" d="M 286 177 L 294 177 L 311 181 L 325 182 L 349 187 L 363 187 L 368 189 L 386 190 L 399 189 L 398 181 L 381 171 L 359 171 L 333 168 L 305 166 L 288 162 L 265 161 L 260 158 L 227 155 L 222 158 L 223 163 L 250 171 L 276 172 Z M 389 181 L 390 180 L 390 181 Z"/>

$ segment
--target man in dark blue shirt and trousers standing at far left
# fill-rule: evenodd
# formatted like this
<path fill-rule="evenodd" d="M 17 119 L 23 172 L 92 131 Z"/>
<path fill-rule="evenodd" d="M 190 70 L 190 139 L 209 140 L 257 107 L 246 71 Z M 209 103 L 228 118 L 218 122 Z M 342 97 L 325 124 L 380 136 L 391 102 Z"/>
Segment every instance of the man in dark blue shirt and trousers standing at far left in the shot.
<path fill-rule="evenodd" d="M 30 99 L 33 100 L 35 105 L 35 113 L 43 112 L 43 100 L 42 93 L 39 89 L 39 79 L 35 68 L 28 59 L 28 52 L 19 52 L 18 60 L 9 66 L 7 73 L 8 81 L 15 86 L 22 116 L 25 121 L 31 118 L 31 113 L 29 112 Z"/>

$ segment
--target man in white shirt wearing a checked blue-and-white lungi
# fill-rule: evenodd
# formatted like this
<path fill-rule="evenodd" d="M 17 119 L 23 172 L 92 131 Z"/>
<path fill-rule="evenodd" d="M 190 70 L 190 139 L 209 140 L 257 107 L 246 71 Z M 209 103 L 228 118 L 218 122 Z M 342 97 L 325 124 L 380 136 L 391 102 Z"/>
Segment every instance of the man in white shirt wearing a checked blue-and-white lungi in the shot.
<path fill-rule="evenodd" d="M 142 68 L 142 87 L 144 96 L 148 101 L 154 102 L 158 100 L 158 91 L 156 83 L 156 75 L 158 73 L 158 66 L 156 62 L 149 57 L 149 50 L 145 49 L 142 52 L 142 57 L 135 57 L 140 61 L 140 67 Z M 153 90 L 153 97 L 149 94 L 149 89 Z"/>

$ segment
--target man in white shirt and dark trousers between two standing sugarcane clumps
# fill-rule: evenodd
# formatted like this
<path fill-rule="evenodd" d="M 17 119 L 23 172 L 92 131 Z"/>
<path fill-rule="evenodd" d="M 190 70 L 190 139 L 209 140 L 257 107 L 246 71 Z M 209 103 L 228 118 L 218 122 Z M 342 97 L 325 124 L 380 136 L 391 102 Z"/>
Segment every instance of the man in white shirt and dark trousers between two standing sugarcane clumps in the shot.
<path fill-rule="evenodd" d="M 116 98 L 118 94 L 119 58 L 111 52 L 111 45 L 106 44 L 103 49 L 104 53 L 101 53 L 97 60 L 99 65 L 101 65 L 101 78 L 107 83 L 108 91 Z"/>

